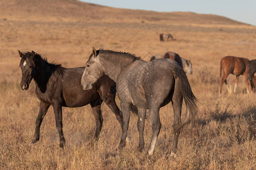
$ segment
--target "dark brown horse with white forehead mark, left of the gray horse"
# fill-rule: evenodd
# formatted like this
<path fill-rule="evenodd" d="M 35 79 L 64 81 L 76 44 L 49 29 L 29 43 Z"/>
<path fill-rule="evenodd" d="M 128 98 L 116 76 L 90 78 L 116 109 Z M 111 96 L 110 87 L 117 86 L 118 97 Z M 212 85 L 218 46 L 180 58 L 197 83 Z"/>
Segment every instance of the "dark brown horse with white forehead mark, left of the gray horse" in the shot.
<path fill-rule="evenodd" d="M 32 143 L 39 140 L 40 125 L 50 105 L 52 105 L 55 113 L 56 128 L 60 135 L 60 147 L 65 144 L 62 130 L 62 107 L 75 108 L 90 104 L 96 120 L 94 135 L 96 139 L 100 134 L 103 122 L 102 101 L 114 112 L 122 126 L 122 112 L 119 111 L 115 103 L 115 82 L 108 76 L 102 76 L 91 90 L 82 90 L 81 77 L 85 67 L 66 69 L 61 65 L 48 63 L 47 59 L 33 51 L 27 53 L 19 51 L 19 55 L 22 70 L 20 87 L 22 90 L 27 90 L 31 80 L 34 79 L 36 96 L 41 101 Z"/>

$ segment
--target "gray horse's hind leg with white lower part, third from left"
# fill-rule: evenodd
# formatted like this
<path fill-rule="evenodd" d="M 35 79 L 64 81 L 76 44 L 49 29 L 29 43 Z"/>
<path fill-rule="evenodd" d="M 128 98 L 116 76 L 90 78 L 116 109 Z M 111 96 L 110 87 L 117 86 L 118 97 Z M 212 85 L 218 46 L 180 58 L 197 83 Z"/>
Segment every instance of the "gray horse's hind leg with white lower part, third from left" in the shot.
<path fill-rule="evenodd" d="M 150 147 L 148 148 L 148 155 L 153 155 L 155 151 L 156 141 L 158 139 L 158 135 L 161 129 L 161 122 L 159 118 L 159 108 L 154 107 L 149 109 L 149 116 L 152 122 L 152 138 L 150 142 Z"/>

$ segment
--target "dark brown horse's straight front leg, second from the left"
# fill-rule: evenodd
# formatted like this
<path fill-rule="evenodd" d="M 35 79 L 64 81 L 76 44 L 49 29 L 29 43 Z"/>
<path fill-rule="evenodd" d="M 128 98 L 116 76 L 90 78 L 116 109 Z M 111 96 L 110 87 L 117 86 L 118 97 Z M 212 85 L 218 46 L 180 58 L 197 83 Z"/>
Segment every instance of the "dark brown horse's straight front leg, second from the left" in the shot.
<path fill-rule="evenodd" d="M 53 111 L 55 114 L 55 122 L 56 122 L 56 128 L 60 136 L 60 147 L 63 148 L 65 145 L 65 138 L 63 134 L 63 124 L 62 124 L 62 108 L 59 103 L 55 103 L 52 105 Z"/>

